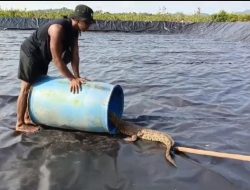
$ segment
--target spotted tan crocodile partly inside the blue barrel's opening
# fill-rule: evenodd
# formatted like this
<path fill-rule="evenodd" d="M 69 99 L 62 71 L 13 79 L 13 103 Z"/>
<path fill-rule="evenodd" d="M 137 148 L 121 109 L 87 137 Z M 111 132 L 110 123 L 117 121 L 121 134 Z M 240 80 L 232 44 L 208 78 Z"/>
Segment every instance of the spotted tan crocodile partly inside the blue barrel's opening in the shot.
<path fill-rule="evenodd" d="M 172 147 L 174 146 L 174 140 L 170 135 L 167 133 L 163 133 L 160 131 L 152 130 L 152 129 L 145 129 L 141 128 L 138 125 L 126 122 L 119 117 L 117 117 L 114 113 L 109 113 L 109 119 L 113 123 L 113 125 L 118 128 L 119 132 L 128 135 L 129 137 L 125 138 L 124 140 L 129 142 L 134 142 L 138 138 L 143 140 L 149 140 L 149 141 L 156 141 L 163 143 L 167 150 L 166 150 L 166 160 L 169 161 L 172 165 L 176 166 L 175 161 L 172 159 L 170 155 L 170 151 Z"/>

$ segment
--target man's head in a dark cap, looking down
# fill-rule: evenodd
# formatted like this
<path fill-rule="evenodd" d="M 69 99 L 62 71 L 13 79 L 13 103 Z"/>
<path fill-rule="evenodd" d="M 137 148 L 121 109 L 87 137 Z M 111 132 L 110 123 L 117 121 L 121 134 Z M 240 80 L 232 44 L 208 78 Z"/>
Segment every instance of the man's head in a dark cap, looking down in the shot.
<path fill-rule="evenodd" d="M 84 32 L 95 22 L 93 14 L 94 12 L 90 7 L 86 5 L 77 5 L 71 18 L 78 21 L 79 30 Z"/>

